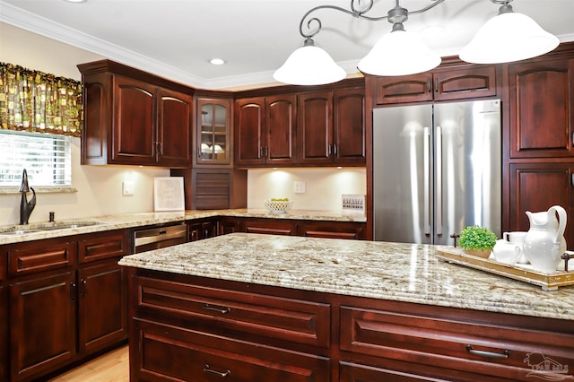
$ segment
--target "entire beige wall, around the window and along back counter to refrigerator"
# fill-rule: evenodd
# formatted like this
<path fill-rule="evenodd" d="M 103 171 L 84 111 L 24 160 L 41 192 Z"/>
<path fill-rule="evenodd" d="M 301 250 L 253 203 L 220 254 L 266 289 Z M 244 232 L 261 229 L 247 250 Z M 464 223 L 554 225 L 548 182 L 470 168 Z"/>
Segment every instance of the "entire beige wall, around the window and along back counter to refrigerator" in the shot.
<path fill-rule="evenodd" d="M 0 22 L 0 61 L 30 69 L 81 79 L 76 65 L 104 58 L 80 48 L 47 39 Z M 81 166 L 80 139 L 73 138 L 73 194 L 39 194 L 30 222 L 153 210 L 153 178 L 167 177 L 168 169 L 136 166 Z M 132 180 L 133 196 L 122 195 L 122 182 Z M 306 194 L 293 192 L 293 182 L 306 182 Z M 33 185 L 31 185 L 33 187 Z M 248 172 L 248 207 L 264 208 L 270 197 L 289 197 L 293 208 L 340 210 L 341 194 L 365 194 L 364 169 L 257 169 Z M 20 195 L 0 194 L 0 225 L 18 223 Z"/>

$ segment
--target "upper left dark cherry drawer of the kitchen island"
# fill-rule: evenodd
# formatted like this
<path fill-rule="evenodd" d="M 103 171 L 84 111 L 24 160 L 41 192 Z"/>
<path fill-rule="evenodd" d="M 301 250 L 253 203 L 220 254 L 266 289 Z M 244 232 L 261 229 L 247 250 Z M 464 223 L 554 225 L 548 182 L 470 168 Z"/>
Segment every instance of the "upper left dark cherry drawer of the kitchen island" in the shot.
<path fill-rule="evenodd" d="M 177 317 L 196 326 L 328 348 L 331 307 L 245 291 L 165 280 L 134 279 L 138 311 Z"/>

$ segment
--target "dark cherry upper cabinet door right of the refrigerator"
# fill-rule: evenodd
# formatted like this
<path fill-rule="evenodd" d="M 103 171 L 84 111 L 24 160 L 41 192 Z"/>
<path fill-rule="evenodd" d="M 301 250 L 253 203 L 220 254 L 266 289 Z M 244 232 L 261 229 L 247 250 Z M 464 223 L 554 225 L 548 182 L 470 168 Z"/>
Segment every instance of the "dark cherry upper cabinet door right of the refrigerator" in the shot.
<path fill-rule="evenodd" d="M 573 157 L 574 59 L 509 65 L 510 157 Z"/>

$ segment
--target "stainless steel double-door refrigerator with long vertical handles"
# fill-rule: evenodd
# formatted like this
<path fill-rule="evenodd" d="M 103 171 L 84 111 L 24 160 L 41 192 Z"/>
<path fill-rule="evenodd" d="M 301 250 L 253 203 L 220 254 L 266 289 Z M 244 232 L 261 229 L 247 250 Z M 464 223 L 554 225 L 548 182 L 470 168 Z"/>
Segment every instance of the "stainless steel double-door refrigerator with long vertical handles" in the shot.
<path fill-rule="evenodd" d="M 452 245 L 467 225 L 500 238 L 500 141 L 500 100 L 374 109 L 374 239 Z"/>

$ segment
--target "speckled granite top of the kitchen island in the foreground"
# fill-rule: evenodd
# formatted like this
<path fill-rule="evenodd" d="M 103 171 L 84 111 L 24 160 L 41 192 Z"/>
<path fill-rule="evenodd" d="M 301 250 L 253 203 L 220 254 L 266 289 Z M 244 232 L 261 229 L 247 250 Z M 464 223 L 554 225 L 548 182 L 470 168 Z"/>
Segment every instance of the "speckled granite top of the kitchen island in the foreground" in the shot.
<path fill-rule="evenodd" d="M 234 233 L 125 256 L 120 265 L 383 300 L 574 320 L 574 286 L 542 291 L 435 247 Z"/>

